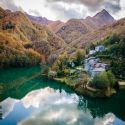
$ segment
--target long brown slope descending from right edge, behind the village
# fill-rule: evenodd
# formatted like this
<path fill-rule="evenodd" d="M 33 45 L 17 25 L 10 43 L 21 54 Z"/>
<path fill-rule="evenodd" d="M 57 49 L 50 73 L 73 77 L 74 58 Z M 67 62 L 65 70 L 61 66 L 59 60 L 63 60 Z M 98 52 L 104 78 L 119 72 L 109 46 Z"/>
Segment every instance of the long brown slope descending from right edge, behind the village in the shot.
<path fill-rule="evenodd" d="M 111 34 L 125 35 L 125 18 L 104 26 L 98 30 L 82 35 L 79 39 L 73 41 L 71 46 L 76 48 L 85 47 L 89 43 L 101 41 Z"/>

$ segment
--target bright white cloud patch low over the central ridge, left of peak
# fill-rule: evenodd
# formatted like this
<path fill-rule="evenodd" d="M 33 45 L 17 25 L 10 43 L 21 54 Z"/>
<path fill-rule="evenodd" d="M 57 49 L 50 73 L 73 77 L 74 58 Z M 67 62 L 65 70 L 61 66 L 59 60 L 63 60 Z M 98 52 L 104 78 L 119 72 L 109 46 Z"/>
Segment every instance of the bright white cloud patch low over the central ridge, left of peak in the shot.
<path fill-rule="evenodd" d="M 49 8 L 55 13 L 57 19 L 68 20 L 70 18 L 83 18 L 86 15 L 85 8 L 82 5 L 68 4 L 68 3 L 53 3 Z"/>

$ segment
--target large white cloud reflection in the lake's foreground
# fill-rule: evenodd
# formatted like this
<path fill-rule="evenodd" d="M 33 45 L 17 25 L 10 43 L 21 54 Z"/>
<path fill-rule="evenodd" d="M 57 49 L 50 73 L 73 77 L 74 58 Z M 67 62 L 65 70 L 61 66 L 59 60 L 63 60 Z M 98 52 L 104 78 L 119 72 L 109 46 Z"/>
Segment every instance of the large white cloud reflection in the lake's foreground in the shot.
<path fill-rule="evenodd" d="M 93 119 L 89 109 L 86 112 L 79 110 L 77 107 L 79 97 L 76 94 L 69 95 L 65 91 L 60 94 L 59 91 L 46 88 L 29 93 L 24 97 L 27 99 L 25 101 L 32 99 L 32 95 L 37 98 L 35 101 L 39 102 L 39 108 L 19 125 L 41 125 L 41 123 L 43 125 L 108 125 L 115 120 L 113 114 L 107 114 L 102 119 Z M 37 107 L 35 101 L 33 100 L 31 105 Z"/>

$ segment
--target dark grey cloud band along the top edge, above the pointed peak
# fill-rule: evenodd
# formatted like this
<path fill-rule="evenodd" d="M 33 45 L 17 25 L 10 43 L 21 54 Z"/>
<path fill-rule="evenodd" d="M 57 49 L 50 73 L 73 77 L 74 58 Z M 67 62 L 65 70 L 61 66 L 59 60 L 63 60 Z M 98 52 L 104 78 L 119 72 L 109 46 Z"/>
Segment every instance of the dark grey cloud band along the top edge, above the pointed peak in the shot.
<path fill-rule="evenodd" d="M 64 2 L 69 5 L 74 3 L 76 5 L 82 4 L 90 11 L 97 11 L 98 9 L 108 9 L 113 13 L 121 10 L 120 0 L 47 0 L 50 3 Z"/>

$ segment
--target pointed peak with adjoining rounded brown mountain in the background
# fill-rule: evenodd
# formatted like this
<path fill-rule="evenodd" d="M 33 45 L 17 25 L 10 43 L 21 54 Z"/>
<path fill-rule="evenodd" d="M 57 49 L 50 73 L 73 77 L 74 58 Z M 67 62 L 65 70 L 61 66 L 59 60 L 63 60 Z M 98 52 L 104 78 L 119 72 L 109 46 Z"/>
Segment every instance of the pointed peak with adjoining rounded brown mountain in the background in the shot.
<path fill-rule="evenodd" d="M 106 10 L 102 10 L 93 17 L 87 17 L 83 20 L 69 20 L 60 27 L 56 34 L 69 44 L 81 37 L 83 34 L 93 32 L 96 29 L 113 23 L 114 21 L 114 18 Z"/>

